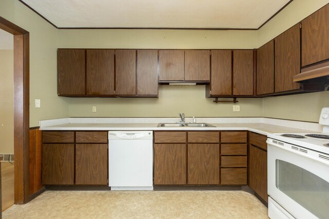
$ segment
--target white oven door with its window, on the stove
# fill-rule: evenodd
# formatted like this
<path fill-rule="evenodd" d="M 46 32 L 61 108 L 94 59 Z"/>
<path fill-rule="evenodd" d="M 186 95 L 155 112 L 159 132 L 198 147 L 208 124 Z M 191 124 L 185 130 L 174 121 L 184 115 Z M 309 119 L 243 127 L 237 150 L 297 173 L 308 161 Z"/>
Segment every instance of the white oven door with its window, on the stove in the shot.
<path fill-rule="evenodd" d="M 269 196 L 294 217 L 327 218 L 329 161 L 310 156 L 315 153 L 312 150 L 306 154 L 275 144 L 271 139 L 267 145 Z"/>

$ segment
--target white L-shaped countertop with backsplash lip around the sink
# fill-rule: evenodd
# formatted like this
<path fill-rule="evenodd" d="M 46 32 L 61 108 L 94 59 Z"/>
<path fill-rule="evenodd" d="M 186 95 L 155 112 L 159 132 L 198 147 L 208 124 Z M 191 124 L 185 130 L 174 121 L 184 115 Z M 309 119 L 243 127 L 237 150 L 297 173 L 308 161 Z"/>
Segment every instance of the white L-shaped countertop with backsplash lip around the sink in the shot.
<path fill-rule="evenodd" d="M 176 122 L 177 118 L 65 118 L 40 122 L 43 131 L 134 131 L 134 130 L 248 130 L 267 135 L 268 133 L 315 133 L 321 132 L 321 125 L 268 118 L 198 118 L 216 127 L 157 127 L 159 122 Z M 156 121 L 156 122 L 155 122 Z M 189 121 L 189 119 L 187 119 Z M 211 122 L 213 121 L 213 122 Z M 233 121 L 233 122 L 228 122 Z M 278 125 L 282 124 L 282 125 Z M 299 129 L 301 127 L 302 129 Z"/>

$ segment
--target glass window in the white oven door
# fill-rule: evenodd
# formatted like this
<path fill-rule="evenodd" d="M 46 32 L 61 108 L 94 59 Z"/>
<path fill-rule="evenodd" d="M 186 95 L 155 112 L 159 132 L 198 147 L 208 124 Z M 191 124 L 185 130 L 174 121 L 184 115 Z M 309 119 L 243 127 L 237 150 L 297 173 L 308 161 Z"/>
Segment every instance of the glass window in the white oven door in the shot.
<path fill-rule="evenodd" d="M 276 160 L 276 187 L 319 218 L 328 217 L 329 182 L 283 160 Z"/>

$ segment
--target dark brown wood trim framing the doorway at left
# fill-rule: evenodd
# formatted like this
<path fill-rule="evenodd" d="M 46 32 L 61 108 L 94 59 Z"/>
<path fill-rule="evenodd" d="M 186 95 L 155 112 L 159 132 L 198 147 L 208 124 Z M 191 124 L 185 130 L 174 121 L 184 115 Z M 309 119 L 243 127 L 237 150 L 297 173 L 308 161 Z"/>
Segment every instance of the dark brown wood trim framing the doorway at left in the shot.
<path fill-rule="evenodd" d="M 14 35 L 14 203 L 29 200 L 29 32 L 0 17 Z"/>

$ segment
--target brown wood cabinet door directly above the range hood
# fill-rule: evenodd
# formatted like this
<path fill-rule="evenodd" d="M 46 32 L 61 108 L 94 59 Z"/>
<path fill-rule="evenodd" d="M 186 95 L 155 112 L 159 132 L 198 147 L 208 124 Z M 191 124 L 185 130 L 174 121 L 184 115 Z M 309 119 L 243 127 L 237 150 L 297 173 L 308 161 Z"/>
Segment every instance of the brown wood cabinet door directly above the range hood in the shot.
<path fill-rule="evenodd" d="M 329 5 L 302 21 L 302 66 L 329 59 Z"/>

